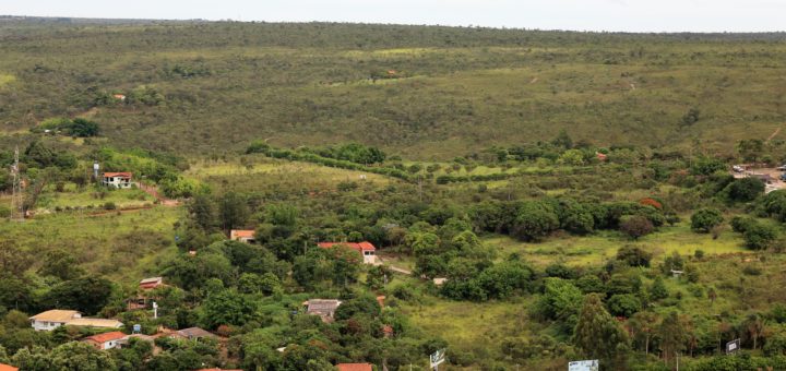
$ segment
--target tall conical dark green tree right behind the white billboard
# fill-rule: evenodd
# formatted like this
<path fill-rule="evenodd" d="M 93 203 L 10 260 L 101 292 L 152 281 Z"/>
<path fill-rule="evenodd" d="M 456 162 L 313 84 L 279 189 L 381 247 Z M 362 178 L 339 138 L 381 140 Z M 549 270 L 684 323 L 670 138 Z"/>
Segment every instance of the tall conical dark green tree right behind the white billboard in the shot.
<path fill-rule="evenodd" d="M 590 294 L 584 298 L 579 323 L 573 332 L 573 343 L 585 356 L 610 364 L 609 370 L 624 363 L 629 348 L 628 334 L 604 308 L 600 296 Z"/>

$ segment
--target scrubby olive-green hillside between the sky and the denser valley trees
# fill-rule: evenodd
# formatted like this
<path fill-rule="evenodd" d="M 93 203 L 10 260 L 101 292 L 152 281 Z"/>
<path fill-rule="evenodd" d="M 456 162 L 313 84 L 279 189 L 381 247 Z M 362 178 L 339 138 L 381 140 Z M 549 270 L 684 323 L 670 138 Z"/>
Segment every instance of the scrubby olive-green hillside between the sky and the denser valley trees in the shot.
<path fill-rule="evenodd" d="M 7 21 L 0 41 L 0 129 L 22 135 L 3 143 L 88 116 L 116 145 L 188 154 L 260 137 L 446 159 L 561 129 L 729 154 L 786 115 L 782 34 Z"/>

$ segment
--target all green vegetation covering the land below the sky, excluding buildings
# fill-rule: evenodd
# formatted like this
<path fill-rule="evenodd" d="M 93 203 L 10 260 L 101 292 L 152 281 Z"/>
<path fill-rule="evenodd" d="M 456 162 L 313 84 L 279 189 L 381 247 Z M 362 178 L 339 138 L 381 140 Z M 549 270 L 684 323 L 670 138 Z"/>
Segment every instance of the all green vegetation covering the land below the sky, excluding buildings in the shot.
<path fill-rule="evenodd" d="M 0 362 L 406 370 L 446 347 L 472 370 L 784 367 L 786 191 L 728 171 L 784 159 L 777 132 L 758 139 L 782 35 L 0 31 L 0 143 L 20 144 L 31 212 L 0 222 Z M 105 189 L 93 161 L 145 188 Z M 151 276 L 158 318 L 129 307 Z M 309 299 L 342 304 L 322 321 Z M 52 308 L 219 338 L 99 351 L 91 330 L 34 332 Z"/>

